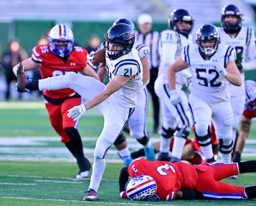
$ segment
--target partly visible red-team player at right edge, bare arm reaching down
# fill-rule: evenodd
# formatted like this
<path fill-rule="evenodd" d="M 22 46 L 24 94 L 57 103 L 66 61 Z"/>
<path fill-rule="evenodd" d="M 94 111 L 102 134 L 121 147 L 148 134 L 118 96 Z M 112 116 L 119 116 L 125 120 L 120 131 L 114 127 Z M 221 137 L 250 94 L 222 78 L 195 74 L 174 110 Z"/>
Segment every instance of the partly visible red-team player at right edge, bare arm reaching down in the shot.
<path fill-rule="evenodd" d="M 240 131 L 237 138 L 233 162 L 240 162 L 245 141 L 250 133 L 251 119 L 256 117 L 256 82 L 253 80 L 245 80 L 244 85 L 246 93 L 245 107 L 243 115 L 240 118 Z"/>

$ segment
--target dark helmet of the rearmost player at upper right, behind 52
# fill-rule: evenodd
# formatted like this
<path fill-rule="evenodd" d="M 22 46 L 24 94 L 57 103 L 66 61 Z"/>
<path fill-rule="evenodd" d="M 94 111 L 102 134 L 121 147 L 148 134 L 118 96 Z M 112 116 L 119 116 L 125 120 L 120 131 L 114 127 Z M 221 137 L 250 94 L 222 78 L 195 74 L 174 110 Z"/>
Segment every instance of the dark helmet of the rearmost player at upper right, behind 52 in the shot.
<path fill-rule="evenodd" d="M 241 9 L 235 4 L 225 5 L 221 10 L 221 26 L 227 31 L 228 33 L 237 33 L 239 32 L 240 28 L 242 27 L 242 14 Z M 235 16 L 237 21 L 232 23 L 229 20 L 226 20 L 228 16 Z"/>

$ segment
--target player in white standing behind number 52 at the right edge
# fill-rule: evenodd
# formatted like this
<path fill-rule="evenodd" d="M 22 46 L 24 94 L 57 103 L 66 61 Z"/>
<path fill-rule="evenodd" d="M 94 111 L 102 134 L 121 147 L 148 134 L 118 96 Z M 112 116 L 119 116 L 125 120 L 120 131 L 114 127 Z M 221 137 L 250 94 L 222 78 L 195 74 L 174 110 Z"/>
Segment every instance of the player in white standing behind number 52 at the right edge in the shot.
<path fill-rule="evenodd" d="M 237 52 L 237 59 L 235 62 L 243 80 L 242 85 L 239 87 L 233 84 L 228 84 L 231 93 L 230 103 L 234 115 L 232 125 L 233 143 L 235 143 L 239 119 L 244 111 L 244 71 L 254 70 L 256 68 L 256 39 L 254 30 L 242 26 L 242 16 L 242 11 L 237 5 L 225 5 L 221 10 L 221 25 L 223 27 L 218 28 L 221 43 L 234 47 Z"/>

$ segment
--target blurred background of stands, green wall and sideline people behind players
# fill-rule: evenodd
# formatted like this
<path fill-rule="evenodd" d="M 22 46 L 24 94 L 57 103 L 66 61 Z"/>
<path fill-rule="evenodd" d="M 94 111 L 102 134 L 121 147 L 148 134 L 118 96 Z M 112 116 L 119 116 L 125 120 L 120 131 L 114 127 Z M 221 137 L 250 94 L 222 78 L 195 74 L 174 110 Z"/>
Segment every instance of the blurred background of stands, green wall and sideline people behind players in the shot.
<path fill-rule="evenodd" d="M 256 0 L 1 0 L 0 1 L 0 101 L 42 100 L 40 92 L 21 95 L 15 91 L 16 77 L 12 67 L 31 56 L 31 49 L 47 43 L 50 28 L 57 23 L 68 25 L 75 35 L 75 44 L 96 51 L 104 33 L 118 18 L 129 18 L 135 23 L 142 13 L 152 16 L 152 30 L 168 28 L 168 16 L 173 9 L 190 10 L 195 19 L 192 35 L 205 24 L 220 26 L 220 11 L 226 4 L 238 5 L 243 13 L 243 26 L 255 30 Z M 40 79 L 38 69 L 28 72 Z M 256 71 L 246 72 L 256 80 Z"/>

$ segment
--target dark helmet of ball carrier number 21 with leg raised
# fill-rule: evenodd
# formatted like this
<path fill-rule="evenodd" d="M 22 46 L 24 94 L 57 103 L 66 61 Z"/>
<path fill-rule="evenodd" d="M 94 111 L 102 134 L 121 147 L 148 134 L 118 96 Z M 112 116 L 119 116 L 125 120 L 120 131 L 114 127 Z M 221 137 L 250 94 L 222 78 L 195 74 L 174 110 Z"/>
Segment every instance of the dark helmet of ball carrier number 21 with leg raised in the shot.
<path fill-rule="evenodd" d="M 104 36 L 103 46 L 105 56 L 114 60 L 128 54 L 133 48 L 134 41 L 135 35 L 131 26 L 126 23 L 118 23 L 112 26 Z M 113 47 L 110 48 L 111 44 L 109 43 L 117 45 L 116 50 L 111 50 Z"/>

